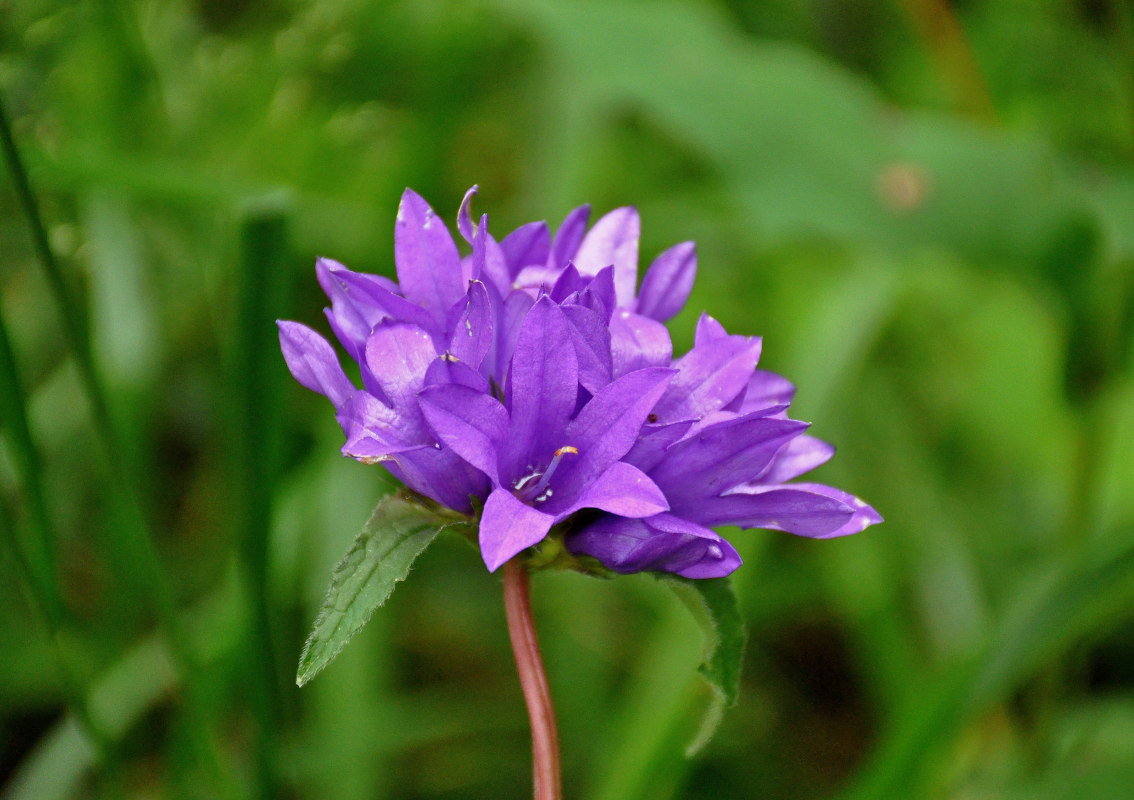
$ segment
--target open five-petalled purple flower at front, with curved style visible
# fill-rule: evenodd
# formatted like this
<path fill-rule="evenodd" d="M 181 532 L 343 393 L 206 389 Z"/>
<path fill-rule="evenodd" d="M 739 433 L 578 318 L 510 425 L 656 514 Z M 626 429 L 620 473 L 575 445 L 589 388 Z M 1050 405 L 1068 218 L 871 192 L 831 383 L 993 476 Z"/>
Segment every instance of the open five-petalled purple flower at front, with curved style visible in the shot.
<path fill-rule="evenodd" d="M 631 372 L 576 413 L 579 372 L 570 326 L 564 309 L 540 297 L 521 328 L 502 398 L 456 384 L 420 395 L 438 439 L 492 483 L 480 522 L 490 570 L 582 508 L 628 519 L 667 510 L 654 482 L 620 458 L 674 372 Z"/>

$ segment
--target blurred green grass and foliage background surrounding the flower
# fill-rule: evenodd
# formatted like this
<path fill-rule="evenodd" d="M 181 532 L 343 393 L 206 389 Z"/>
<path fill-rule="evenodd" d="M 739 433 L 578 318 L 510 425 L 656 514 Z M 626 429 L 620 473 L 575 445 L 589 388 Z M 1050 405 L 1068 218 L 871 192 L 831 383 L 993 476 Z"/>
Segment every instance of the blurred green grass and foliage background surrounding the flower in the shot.
<path fill-rule="evenodd" d="M 293 677 L 389 487 L 273 320 L 325 330 L 314 258 L 392 273 L 403 187 L 451 226 L 473 183 L 498 235 L 696 239 L 677 350 L 763 335 L 887 517 L 730 533 L 743 693 L 693 760 L 675 598 L 540 574 L 568 797 L 1131 797 L 1132 65 L 1126 0 L 0 2 L 59 270 L 3 170 L 2 798 L 530 791 L 464 541 Z"/>

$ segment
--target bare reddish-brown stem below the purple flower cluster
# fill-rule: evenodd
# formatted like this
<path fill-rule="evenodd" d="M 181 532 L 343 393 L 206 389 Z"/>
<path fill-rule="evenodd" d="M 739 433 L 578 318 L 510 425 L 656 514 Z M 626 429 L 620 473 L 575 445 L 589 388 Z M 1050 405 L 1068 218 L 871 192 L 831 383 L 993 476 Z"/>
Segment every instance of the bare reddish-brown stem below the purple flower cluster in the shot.
<path fill-rule="evenodd" d="M 540 645 L 532 622 L 527 570 L 516 558 L 503 565 L 503 607 L 508 616 L 508 637 L 516 656 L 516 670 L 519 672 L 519 685 L 524 690 L 527 716 L 532 721 L 535 800 L 561 800 L 556 713 L 551 707 L 551 691 L 543 673 L 543 659 L 540 658 Z"/>

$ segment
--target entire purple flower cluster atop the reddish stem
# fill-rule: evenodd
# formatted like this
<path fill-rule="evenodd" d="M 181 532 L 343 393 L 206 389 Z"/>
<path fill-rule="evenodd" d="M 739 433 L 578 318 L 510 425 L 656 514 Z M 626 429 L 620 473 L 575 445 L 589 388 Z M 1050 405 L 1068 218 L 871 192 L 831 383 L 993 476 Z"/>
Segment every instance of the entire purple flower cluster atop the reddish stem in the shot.
<path fill-rule="evenodd" d="M 465 195 L 462 256 L 429 204 L 406 190 L 395 225 L 397 283 L 320 259 L 327 318 L 358 364 L 280 322 L 296 380 L 331 401 L 342 453 L 382 463 L 414 491 L 480 511 L 496 570 L 552 530 L 616 572 L 717 578 L 741 558 L 712 525 L 830 538 L 881 517 L 818 483 L 787 482 L 831 457 L 787 416 L 794 387 L 756 369 L 759 338 L 708 314 L 674 357 L 663 322 L 685 304 L 696 252 L 661 253 L 637 281 L 633 208 L 590 229 L 575 209 L 497 241 Z"/>

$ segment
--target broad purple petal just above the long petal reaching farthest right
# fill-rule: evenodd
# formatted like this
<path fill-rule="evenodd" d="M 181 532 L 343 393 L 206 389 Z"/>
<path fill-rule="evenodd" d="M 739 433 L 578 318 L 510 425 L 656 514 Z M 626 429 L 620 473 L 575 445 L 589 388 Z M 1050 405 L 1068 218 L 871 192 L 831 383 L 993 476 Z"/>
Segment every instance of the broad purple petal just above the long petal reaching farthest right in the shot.
<path fill-rule="evenodd" d="M 741 418 L 692 433 L 666 450 L 650 477 L 669 498 L 674 513 L 709 523 L 695 512 L 685 513 L 706 497 L 753 480 L 776 453 L 802 433 L 806 422 Z"/>

